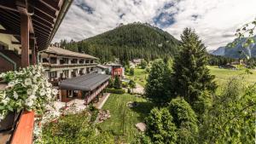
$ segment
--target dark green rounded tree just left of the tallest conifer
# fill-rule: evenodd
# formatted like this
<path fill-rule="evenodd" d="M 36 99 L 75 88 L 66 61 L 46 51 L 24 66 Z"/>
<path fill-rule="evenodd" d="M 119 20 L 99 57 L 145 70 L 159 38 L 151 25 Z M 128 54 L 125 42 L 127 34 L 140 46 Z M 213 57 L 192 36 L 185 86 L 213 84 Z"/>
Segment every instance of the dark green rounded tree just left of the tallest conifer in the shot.
<path fill-rule="evenodd" d="M 163 60 L 154 60 L 148 75 L 145 95 L 155 103 L 162 104 L 169 101 L 169 96 L 166 95 L 168 72 L 170 70 Z"/>

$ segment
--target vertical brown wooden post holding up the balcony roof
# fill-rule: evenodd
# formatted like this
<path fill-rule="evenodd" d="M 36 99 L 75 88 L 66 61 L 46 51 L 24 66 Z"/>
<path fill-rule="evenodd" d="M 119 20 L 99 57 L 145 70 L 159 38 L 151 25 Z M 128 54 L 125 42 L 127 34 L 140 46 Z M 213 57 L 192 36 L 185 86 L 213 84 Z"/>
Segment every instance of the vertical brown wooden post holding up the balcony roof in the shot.
<path fill-rule="evenodd" d="M 29 66 L 29 18 L 20 14 L 21 67 Z"/>

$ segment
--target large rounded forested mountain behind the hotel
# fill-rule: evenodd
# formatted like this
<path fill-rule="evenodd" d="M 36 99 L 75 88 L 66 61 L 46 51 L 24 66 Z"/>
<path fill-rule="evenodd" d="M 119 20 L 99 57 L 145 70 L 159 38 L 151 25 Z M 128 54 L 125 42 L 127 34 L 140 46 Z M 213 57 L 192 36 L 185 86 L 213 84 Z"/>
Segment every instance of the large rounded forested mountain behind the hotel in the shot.
<path fill-rule="evenodd" d="M 179 41 L 168 32 L 149 24 L 132 23 L 79 42 L 61 40 L 61 47 L 94 55 L 102 62 L 119 58 L 154 60 L 177 54 Z"/>

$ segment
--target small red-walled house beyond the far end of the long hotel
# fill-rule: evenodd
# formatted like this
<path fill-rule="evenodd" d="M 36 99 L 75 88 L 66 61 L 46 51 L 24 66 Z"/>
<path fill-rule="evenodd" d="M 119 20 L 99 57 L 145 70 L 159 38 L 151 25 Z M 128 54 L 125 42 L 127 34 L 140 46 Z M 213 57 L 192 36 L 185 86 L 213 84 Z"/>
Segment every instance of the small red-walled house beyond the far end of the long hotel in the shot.
<path fill-rule="evenodd" d="M 109 63 L 106 66 L 108 66 L 108 71 L 111 72 L 112 78 L 115 76 L 118 76 L 119 78 L 124 78 L 125 76 L 125 68 L 116 63 Z"/>

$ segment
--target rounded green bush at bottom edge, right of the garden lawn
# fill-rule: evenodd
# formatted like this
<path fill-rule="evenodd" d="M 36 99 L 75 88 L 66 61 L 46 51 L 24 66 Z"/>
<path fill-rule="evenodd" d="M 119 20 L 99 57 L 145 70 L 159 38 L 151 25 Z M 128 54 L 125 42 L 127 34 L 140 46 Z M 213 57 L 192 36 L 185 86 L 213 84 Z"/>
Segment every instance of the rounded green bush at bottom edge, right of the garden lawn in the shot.
<path fill-rule="evenodd" d="M 172 123 L 172 115 L 167 108 L 154 108 L 147 118 L 147 135 L 157 144 L 176 143 L 176 126 Z"/>

